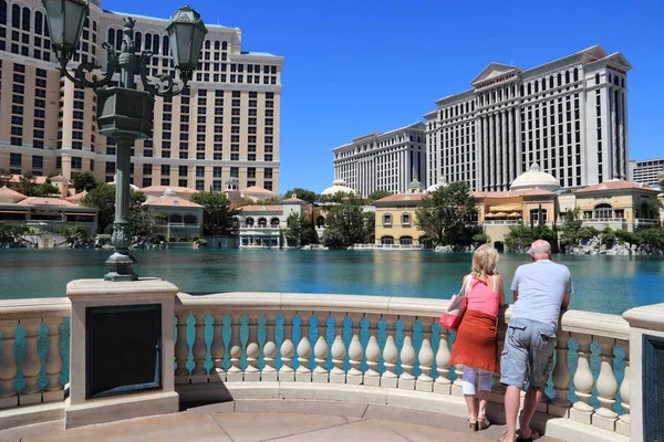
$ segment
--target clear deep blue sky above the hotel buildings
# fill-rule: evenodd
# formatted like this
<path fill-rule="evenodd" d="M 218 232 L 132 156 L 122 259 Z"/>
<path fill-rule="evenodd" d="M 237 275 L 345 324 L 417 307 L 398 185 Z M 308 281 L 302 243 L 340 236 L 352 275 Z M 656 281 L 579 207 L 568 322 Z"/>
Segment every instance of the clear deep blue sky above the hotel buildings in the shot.
<path fill-rule="evenodd" d="M 242 30 L 242 49 L 283 55 L 280 190 L 321 191 L 333 147 L 416 120 L 465 91 L 489 63 L 529 69 L 600 44 L 629 74 L 630 156 L 664 156 L 664 2 L 200 1 L 211 24 Z M 168 17 L 183 0 L 103 0 Z M 633 6 L 636 4 L 636 6 Z"/>

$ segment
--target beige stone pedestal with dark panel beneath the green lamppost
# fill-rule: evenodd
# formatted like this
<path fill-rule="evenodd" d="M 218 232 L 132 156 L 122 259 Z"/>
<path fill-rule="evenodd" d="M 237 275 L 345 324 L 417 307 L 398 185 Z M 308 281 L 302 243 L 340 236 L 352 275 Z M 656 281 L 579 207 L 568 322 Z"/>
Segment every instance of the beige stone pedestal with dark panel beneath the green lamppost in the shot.
<path fill-rule="evenodd" d="M 71 383 L 70 397 L 65 400 L 65 425 L 68 428 L 111 422 L 145 415 L 172 413 L 178 411 L 179 399 L 174 385 L 174 306 L 178 288 L 158 278 L 145 278 L 132 282 L 108 282 L 102 280 L 77 280 L 66 286 L 71 308 Z M 87 333 L 92 308 L 108 307 L 114 317 L 117 312 L 128 308 L 152 307 L 158 305 L 160 327 L 158 361 L 160 373 L 155 378 L 155 388 L 132 392 L 125 386 L 114 386 L 108 396 L 94 397 L 89 390 L 89 381 L 94 381 L 91 360 L 97 351 L 107 348 L 92 348 L 89 355 Z M 113 322 L 112 318 L 107 319 Z M 97 322 L 96 327 L 110 327 L 107 322 Z M 103 332 L 103 330 L 102 330 Z M 113 350 L 113 348 L 111 348 Z M 107 367 L 106 367 L 107 368 Z M 128 367 L 127 367 L 128 368 Z M 114 391 L 115 390 L 115 391 Z M 120 392 L 115 394 L 114 392 Z"/>

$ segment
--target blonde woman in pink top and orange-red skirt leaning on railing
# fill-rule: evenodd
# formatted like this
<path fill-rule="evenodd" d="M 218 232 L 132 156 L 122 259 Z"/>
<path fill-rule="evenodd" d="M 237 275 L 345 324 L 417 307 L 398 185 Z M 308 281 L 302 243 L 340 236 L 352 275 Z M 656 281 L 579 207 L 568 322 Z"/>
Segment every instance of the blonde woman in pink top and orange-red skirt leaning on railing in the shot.
<path fill-rule="evenodd" d="M 461 385 L 471 431 L 489 427 L 486 412 L 491 377 L 497 371 L 498 309 L 505 305 L 502 278 L 497 265 L 498 252 L 490 245 L 480 245 L 473 254 L 473 271 L 464 276 L 463 283 L 466 313 L 452 346 L 452 364 L 464 366 Z M 479 408 L 475 403 L 476 376 L 479 376 Z"/>

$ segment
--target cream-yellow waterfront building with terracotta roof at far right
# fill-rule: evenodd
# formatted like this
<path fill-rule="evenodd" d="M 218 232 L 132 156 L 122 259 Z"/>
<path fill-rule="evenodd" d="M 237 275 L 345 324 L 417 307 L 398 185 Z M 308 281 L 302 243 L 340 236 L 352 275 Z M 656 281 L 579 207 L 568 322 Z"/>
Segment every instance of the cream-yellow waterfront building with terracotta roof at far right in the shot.
<path fill-rule="evenodd" d="M 574 192 L 583 225 L 633 232 L 640 227 L 660 225 L 654 206 L 660 191 L 643 183 L 611 180 Z"/>

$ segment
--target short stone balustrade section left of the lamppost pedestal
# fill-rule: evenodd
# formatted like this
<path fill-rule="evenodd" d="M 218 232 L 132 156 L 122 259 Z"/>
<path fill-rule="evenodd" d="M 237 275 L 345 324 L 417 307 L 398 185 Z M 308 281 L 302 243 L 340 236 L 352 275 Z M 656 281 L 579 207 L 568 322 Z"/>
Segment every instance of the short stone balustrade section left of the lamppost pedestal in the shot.
<path fill-rule="evenodd" d="M 64 400 L 68 298 L 0 303 L 0 410 Z"/>

